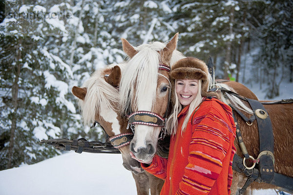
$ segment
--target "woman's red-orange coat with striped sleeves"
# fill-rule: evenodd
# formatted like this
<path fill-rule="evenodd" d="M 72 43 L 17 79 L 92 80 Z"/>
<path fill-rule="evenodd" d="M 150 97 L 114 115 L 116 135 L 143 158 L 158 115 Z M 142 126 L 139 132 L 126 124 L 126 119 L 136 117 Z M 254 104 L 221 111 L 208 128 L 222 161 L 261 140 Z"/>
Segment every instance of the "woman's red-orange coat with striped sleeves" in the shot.
<path fill-rule="evenodd" d="M 178 115 L 168 159 L 155 155 L 143 168 L 165 179 L 161 195 L 230 195 L 236 130 L 231 108 L 207 98 L 181 135 L 187 110 Z"/>

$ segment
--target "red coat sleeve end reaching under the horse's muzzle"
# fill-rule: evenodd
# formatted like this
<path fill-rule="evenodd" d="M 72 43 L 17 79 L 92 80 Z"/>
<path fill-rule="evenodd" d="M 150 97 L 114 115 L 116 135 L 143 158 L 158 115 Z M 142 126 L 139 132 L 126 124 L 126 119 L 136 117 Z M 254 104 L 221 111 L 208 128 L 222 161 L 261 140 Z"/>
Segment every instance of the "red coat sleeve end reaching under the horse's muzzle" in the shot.
<path fill-rule="evenodd" d="M 160 179 L 165 180 L 167 177 L 167 158 L 162 158 L 156 154 L 149 166 L 144 163 L 141 163 L 141 166 L 148 173 L 151 173 Z"/>

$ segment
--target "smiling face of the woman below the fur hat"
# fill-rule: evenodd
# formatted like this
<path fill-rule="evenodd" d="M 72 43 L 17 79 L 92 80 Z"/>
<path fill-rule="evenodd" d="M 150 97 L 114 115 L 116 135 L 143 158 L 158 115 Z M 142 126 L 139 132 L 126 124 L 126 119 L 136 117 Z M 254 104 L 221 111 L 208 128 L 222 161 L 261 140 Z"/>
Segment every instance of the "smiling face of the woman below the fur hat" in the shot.
<path fill-rule="evenodd" d="M 198 80 L 177 79 L 175 81 L 176 93 L 182 106 L 189 105 L 198 92 Z"/>

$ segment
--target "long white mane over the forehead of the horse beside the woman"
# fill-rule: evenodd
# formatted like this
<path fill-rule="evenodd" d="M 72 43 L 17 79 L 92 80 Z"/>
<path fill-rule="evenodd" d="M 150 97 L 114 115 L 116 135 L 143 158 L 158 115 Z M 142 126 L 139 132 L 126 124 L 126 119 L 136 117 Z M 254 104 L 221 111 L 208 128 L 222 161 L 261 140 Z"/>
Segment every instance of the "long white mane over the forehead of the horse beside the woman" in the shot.
<path fill-rule="evenodd" d="M 165 46 L 166 43 L 153 42 L 135 48 L 138 53 L 127 62 L 127 69 L 120 82 L 119 104 L 121 110 L 128 112 L 131 106 L 137 109 L 140 104 L 138 101 L 144 101 L 148 98 L 152 100 L 151 107 L 155 104 L 160 58 L 158 51 L 161 51 Z M 174 51 L 170 64 L 173 65 L 182 58 L 184 56 L 179 51 Z"/>

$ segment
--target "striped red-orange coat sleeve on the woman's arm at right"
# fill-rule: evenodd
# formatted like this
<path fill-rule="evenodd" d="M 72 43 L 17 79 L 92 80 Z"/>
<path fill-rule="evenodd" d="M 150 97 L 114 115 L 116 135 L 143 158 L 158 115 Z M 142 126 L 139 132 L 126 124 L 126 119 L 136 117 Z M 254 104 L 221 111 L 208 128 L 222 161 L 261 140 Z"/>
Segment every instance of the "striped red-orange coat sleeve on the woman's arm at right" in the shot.
<path fill-rule="evenodd" d="M 224 109 L 222 112 L 227 119 Z M 233 132 L 230 120 L 226 122 L 222 112 L 210 109 L 206 115 L 192 119 L 188 165 L 176 194 L 207 195 L 221 173 L 223 159 L 234 141 L 230 137 Z M 228 170 L 229 164 L 225 166 Z"/>

